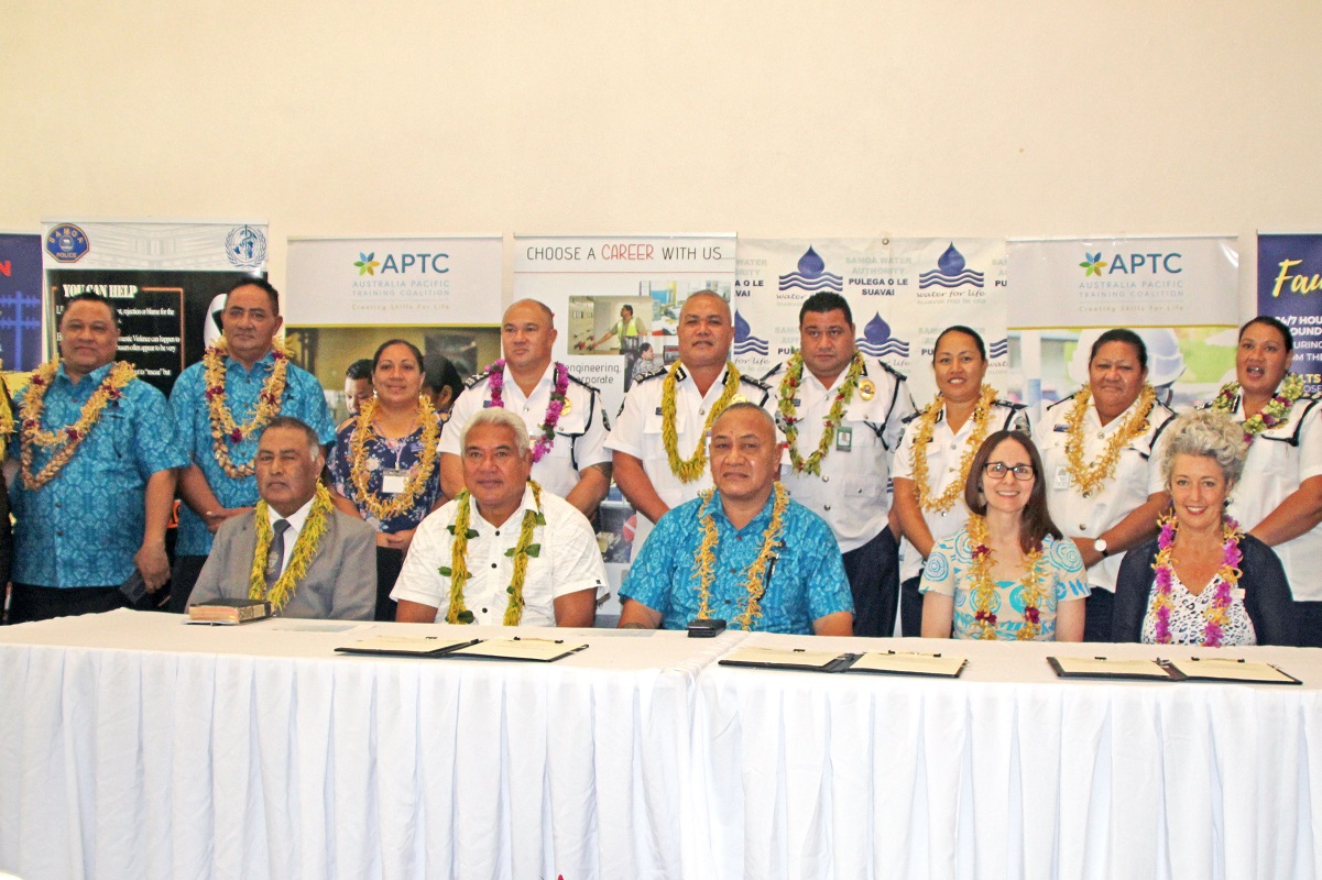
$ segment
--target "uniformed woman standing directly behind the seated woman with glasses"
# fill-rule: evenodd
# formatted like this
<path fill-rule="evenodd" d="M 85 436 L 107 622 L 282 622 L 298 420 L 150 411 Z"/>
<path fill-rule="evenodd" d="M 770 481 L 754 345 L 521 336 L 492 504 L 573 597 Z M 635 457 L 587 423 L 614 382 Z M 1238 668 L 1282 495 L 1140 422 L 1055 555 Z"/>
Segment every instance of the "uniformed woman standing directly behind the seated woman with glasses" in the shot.
<path fill-rule="evenodd" d="M 966 326 L 945 328 L 936 337 L 932 371 L 936 398 L 910 420 L 895 453 L 895 521 L 904 535 L 900 552 L 900 618 L 906 636 L 923 625 L 919 575 L 923 560 L 941 538 L 957 532 L 969 518 L 964 484 L 969 465 L 988 433 L 1029 429 L 1023 407 L 997 399 L 985 386 L 986 345 Z"/>

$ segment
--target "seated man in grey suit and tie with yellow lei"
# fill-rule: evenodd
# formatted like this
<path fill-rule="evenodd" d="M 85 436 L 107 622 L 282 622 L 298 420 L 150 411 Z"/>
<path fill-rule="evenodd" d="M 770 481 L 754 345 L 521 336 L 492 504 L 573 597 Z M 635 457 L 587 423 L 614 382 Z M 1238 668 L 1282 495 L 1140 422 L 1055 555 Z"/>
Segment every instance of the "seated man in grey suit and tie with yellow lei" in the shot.
<path fill-rule="evenodd" d="M 371 620 L 377 532 L 334 509 L 317 482 L 324 464 L 312 428 L 271 419 L 256 453 L 260 501 L 221 525 L 189 605 L 249 597 L 286 617 Z"/>

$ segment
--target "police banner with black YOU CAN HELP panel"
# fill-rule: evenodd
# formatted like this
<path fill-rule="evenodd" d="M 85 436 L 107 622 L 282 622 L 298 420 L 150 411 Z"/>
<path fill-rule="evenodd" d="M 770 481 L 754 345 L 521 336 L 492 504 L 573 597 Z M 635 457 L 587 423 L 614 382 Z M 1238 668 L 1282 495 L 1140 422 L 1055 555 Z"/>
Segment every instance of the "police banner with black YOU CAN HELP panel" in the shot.
<path fill-rule="evenodd" d="M 264 223 L 45 221 L 42 247 L 52 342 L 65 300 L 100 293 L 119 311 L 119 358 L 165 392 L 219 338 L 227 288 L 266 275 Z"/>

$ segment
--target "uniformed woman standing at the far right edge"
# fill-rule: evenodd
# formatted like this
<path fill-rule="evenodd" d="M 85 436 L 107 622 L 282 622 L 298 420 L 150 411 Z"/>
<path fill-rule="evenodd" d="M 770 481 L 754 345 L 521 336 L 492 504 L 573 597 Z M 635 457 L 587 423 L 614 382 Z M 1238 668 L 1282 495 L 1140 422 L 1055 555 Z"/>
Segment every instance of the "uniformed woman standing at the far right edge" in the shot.
<path fill-rule="evenodd" d="M 1294 338 L 1281 321 L 1259 316 L 1240 328 L 1235 382 L 1211 408 L 1244 432 L 1244 478 L 1229 513 L 1280 556 L 1298 610 L 1300 642 L 1322 647 L 1322 406 L 1290 373 Z M 1311 566 L 1311 571 L 1309 569 Z"/>

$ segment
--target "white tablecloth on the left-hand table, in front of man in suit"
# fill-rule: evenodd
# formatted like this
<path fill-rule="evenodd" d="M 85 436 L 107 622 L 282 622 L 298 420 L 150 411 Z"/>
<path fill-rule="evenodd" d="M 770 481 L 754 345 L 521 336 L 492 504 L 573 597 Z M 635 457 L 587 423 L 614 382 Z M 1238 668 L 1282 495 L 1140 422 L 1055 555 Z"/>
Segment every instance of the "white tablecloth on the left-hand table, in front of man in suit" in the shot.
<path fill-rule="evenodd" d="M 693 683 L 719 641 L 557 630 L 591 647 L 553 665 L 411 661 L 332 649 L 451 628 L 290 629 L 308 626 L 124 610 L 0 629 L 0 868 L 680 875 Z"/>

